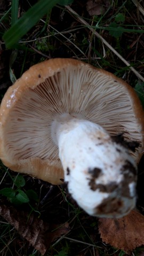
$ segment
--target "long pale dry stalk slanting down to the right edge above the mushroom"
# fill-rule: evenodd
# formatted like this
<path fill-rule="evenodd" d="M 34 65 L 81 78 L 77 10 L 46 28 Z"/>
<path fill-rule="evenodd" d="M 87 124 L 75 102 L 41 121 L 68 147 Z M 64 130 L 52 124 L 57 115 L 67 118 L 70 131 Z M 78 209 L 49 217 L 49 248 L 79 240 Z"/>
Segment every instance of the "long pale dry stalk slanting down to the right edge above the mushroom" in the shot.
<path fill-rule="evenodd" d="M 137 70 L 135 70 L 133 67 L 131 67 L 130 63 L 127 62 L 127 61 L 126 61 L 126 60 L 125 60 L 125 59 L 124 59 L 124 58 L 123 58 L 123 57 L 122 57 L 122 56 L 121 56 L 121 55 L 120 55 L 120 54 L 119 54 L 102 36 L 100 36 L 97 31 L 95 31 L 92 27 L 90 27 L 89 23 L 87 23 L 83 18 L 81 18 L 73 9 L 71 9 L 70 6 L 66 5 L 66 9 L 67 9 L 70 13 L 74 14 L 74 15 L 77 17 L 77 20 L 80 21 L 83 25 L 89 27 L 89 29 L 92 31 L 92 33 L 93 33 L 95 36 L 97 36 L 97 37 L 103 42 L 103 44 L 105 44 L 112 52 L 114 52 L 114 53 L 117 55 L 117 57 L 118 57 L 119 59 L 121 59 L 121 60 L 125 63 L 125 65 L 126 65 L 127 67 L 129 67 L 129 68 L 133 71 L 133 73 L 134 73 L 138 78 L 140 78 L 140 79 L 144 82 L 144 77 L 141 76 L 141 75 L 138 73 Z"/>

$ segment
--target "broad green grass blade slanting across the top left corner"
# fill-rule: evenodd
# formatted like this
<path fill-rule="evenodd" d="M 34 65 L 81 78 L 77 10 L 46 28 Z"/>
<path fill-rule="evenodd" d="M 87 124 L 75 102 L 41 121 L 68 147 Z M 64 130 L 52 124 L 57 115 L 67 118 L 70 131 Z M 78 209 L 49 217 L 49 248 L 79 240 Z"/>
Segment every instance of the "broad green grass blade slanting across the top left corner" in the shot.
<path fill-rule="evenodd" d="M 40 0 L 31 7 L 14 25 L 5 32 L 3 40 L 6 48 L 10 49 L 47 13 L 58 0 Z"/>

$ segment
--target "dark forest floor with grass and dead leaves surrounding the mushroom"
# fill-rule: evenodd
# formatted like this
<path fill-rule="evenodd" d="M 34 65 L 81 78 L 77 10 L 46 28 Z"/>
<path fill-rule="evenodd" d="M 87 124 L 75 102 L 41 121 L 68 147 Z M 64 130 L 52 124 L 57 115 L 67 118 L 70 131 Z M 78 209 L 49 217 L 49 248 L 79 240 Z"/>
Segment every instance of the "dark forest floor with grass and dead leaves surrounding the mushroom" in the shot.
<path fill-rule="evenodd" d="M 20 19 L 36 2 L 2 0 L 0 3 L 1 100 L 12 82 L 35 63 L 51 58 L 74 58 L 124 79 L 138 93 L 144 106 L 143 1 L 61 0 L 61 5 L 54 5 L 23 33 L 18 44 L 7 47 L 5 32 L 14 19 Z M 10 38 L 14 36 L 11 34 Z M 143 164 L 144 158 L 138 166 L 139 212 L 122 218 L 121 223 L 108 223 L 109 233 L 102 238 L 99 219 L 79 209 L 67 195 L 65 186 L 18 175 L 1 163 L 0 255 L 143 256 Z M 1 193 L 7 188 L 10 189 L 5 190 L 5 195 Z M 131 229 L 134 221 L 137 230 Z M 122 234 L 119 244 L 117 225 Z M 103 229 L 105 225 L 102 232 Z M 143 242 L 135 244 L 138 236 Z"/>

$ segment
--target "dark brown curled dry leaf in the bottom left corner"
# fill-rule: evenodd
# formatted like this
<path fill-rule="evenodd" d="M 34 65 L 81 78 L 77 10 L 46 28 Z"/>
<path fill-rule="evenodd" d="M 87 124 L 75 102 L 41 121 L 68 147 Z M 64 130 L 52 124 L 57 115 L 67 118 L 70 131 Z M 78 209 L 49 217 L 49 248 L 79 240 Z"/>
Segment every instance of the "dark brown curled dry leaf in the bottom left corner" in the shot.
<path fill-rule="evenodd" d="M 13 206 L 0 205 L 0 214 L 42 255 L 56 238 L 70 230 L 68 222 L 53 225 L 38 219 L 34 214 L 28 217 L 26 212 L 17 211 Z"/>

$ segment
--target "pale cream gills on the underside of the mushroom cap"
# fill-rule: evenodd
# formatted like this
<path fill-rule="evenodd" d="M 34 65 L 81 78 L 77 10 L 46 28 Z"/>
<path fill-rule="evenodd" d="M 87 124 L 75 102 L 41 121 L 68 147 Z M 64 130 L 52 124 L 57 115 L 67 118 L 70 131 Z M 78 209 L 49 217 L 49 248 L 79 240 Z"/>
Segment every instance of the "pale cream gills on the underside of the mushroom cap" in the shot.
<path fill-rule="evenodd" d="M 102 125 L 112 134 L 124 132 L 126 138 L 140 140 L 126 89 L 113 82 L 113 90 L 111 78 L 105 75 L 101 78 L 100 72 L 92 72 L 87 66 L 85 70 L 84 67 L 81 70 L 67 68 L 35 89 L 22 93 L 5 129 L 6 150 L 11 151 L 12 158 L 58 159 L 58 147 L 51 138 L 51 124 L 55 115 L 63 113 L 77 114 Z"/>

